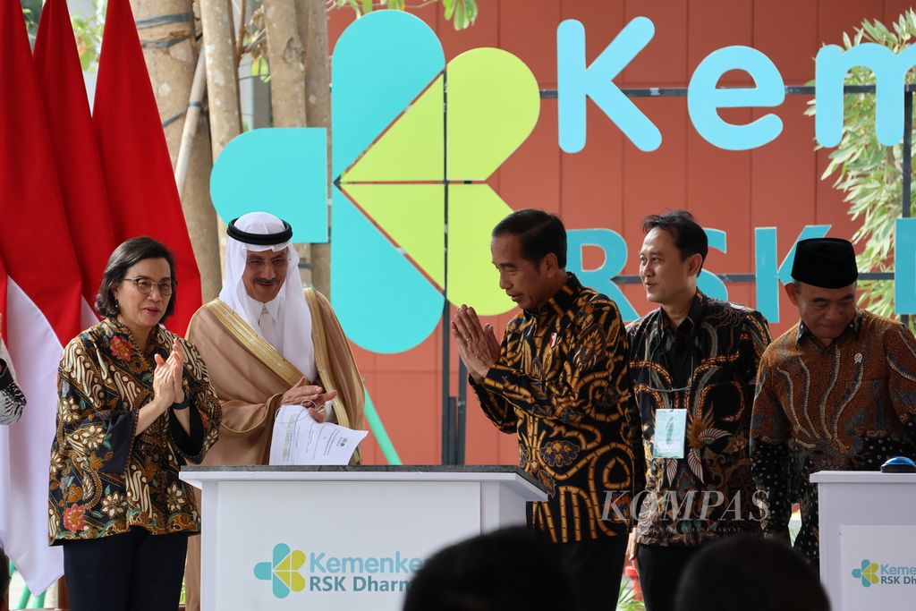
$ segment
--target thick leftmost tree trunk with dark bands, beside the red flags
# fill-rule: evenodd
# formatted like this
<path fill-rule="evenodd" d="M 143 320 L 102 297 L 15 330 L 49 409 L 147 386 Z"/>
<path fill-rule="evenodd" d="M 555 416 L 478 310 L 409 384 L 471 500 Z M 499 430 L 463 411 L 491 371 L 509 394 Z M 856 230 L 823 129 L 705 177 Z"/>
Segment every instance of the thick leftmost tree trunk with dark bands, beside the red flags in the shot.
<path fill-rule="evenodd" d="M 131 0 L 131 7 L 174 168 L 197 63 L 192 0 Z M 204 301 L 216 297 L 221 284 L 216 213 L 210 202 L 212 168 L 210 135 L 206 124 L 201 124 L 191 149 L 188 179 L 180 195 L 194 256 L 201 272 Z"/>

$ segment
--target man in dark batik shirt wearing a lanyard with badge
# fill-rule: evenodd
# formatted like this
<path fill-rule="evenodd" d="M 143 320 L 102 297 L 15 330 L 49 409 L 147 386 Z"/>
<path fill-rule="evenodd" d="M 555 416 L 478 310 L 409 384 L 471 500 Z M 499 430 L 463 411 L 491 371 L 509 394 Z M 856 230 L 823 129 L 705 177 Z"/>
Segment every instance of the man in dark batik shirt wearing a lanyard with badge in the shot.
<path fill-rule="evenodd" d="M 755 496 L 747 443 L 770 338 L 759 312 L 697 289 L 708 241 L 691 213 L 653 214 L 642 228 L 639 277 L 660 307 L 627 325 L 647 470 L 627 556 L 646 608 L 666 611 L 704 542 L 760 530 L 765 499 Z"/>

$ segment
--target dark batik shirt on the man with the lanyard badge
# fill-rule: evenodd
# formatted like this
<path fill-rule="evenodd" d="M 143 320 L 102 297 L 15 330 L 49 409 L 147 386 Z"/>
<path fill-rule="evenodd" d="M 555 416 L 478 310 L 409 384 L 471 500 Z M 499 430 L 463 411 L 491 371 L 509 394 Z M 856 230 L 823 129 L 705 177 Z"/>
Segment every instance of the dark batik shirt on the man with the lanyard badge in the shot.
<path fill-rule="evenodd" d="M 748 440 L 767 320 L 697 291 L 676 330 L 659 308 L 627 332 L 647 464 L 638 541 L 694 546 L 759 532 L 763 500 L 755 496 Z M 658 409 L 687 410 L 683 458 L 653 458 Z"/>

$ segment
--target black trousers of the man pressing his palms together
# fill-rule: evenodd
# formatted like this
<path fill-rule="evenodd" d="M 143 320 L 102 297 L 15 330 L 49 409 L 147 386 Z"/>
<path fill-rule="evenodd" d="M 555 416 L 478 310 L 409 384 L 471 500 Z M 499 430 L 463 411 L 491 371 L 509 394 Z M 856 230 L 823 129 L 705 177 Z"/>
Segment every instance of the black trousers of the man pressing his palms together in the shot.
<path fill-rule="evenodd" d="M 614 611 L 627 553 L 627 533 L 616 537 L 557 543 L 573 578 L 581 611 Z"/>

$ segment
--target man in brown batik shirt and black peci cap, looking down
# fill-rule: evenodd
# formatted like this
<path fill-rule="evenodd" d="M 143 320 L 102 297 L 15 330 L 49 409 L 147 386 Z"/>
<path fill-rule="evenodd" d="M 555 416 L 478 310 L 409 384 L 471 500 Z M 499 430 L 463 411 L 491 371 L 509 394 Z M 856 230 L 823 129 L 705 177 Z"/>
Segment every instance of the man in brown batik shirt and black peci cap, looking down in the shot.
<path fill-rule="evenodd" d="M 802 529 L 795 548 L 817 567 L 818 471 L 870 471 L 916 456 L 916 340 L 856 307 L 856 253 L 836 238 L 802 240 L 786 293 L 800 322 L 760 362 L 750 452 L 769 494 L 764 532 L 788 538 L 799 482 Z"/>

